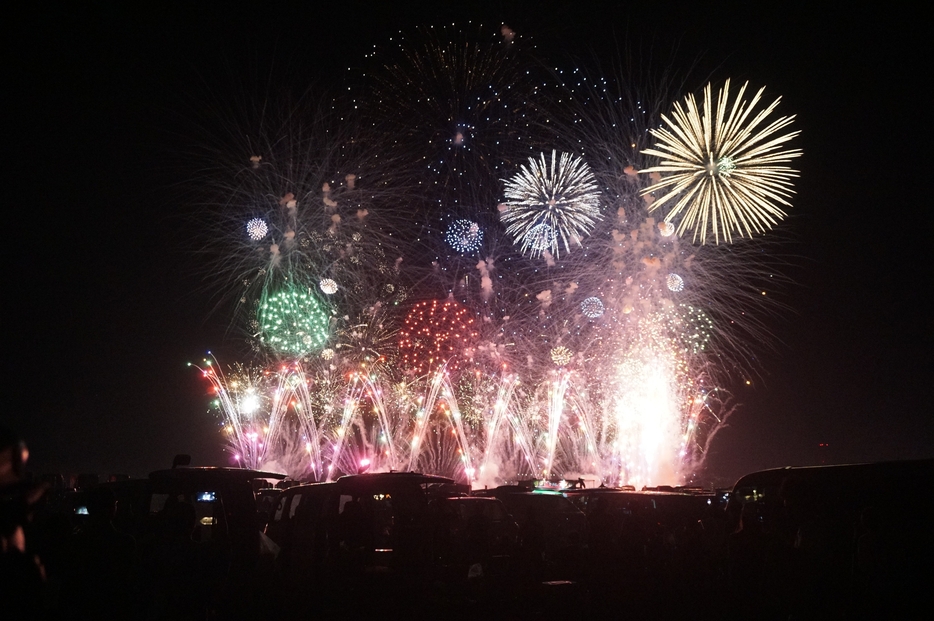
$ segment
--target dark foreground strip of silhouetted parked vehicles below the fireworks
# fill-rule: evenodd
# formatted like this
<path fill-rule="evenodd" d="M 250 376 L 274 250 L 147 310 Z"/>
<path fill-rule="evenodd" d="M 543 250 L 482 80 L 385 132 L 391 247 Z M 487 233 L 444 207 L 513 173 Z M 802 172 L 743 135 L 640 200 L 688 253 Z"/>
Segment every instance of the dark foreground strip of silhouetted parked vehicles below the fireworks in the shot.
<path fill-rule="evenodd" d="M 175 468 L 34 504 L 8 486 L 4 528 L 24 518 L 26 553 L 0 557 L 3 599 L 69 620 L 931 614 L 934 460 L 763 471 L 720 492 L 278 477 Z"/>

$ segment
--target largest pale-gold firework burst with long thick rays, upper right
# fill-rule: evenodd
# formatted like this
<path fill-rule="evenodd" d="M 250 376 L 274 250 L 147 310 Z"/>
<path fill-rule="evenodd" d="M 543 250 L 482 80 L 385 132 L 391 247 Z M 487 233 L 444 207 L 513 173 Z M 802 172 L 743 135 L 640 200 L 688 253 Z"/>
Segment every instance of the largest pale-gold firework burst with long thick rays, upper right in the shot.
<path fill-rule="evenodd" d="M 711 84 L 704 88 L 703 109 L 693 95 L 684 106 L 675 104 L 671 118 L 662 115 L 667 127 L 650 130 L 656 139 L 654 149 L 643 153 L 660 158 L 657 166 L 640 172 L 666 175 L 642 190 L 654 193 L 649 210 L 669 205 L 666 221 L 677 221 L 678 234 L 693 232 L 694 241 L 731 243 L 733 234 L 751 237 L 772 228 L 785 217 L 782 205 L 790 207 L 794 194 L 791 179 L 798 171 L 785 164 L 801 155 L 800 149 L 783 145 L 797 136 L 781 130 L 794 121 L 794 115 L 766 123 L 781 97 L 753 115 L 765 88 L 746 101 L 746 84 L 730 103 L 730 81 L 712 101 Z"/>

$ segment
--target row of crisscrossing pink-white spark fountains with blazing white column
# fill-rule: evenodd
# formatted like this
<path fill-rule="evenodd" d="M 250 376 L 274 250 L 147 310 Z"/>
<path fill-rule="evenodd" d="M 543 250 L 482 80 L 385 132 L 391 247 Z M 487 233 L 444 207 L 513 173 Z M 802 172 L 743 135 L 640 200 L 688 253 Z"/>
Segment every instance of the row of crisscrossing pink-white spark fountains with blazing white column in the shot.
<path fill-rule="evenodd" d="M 314 481 L 420 471 L 480 487 L 529 478 L 678 483 L 707 395 L 686 381 L 681 353 L 653 340 L 616 365 L 609 394 L 594 398 L 564 368 L 532 395 L 504 374 L 484 378 L 493 397 L 471 417 L 445 368 L 403 382 L 375 372 L 324 381 L 300 364 L 224 374 L 208 360 L 199 368 L 245 467 Z"/>

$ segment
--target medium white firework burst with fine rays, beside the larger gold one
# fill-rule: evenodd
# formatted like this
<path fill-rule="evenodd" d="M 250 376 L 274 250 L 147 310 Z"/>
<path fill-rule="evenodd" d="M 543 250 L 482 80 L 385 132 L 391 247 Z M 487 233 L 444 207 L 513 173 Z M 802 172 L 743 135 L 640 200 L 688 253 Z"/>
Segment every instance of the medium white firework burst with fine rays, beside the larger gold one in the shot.
<path fill-rule="evenodd" d="M 600 192 L 590 167 L 568 153 L 552 151 L 550 162 L 544 153 L 529 158 L 506 181 L 505 193 L 500 219 L 506 233 L 533 257 L 570 252 L 601 218 Z"/>

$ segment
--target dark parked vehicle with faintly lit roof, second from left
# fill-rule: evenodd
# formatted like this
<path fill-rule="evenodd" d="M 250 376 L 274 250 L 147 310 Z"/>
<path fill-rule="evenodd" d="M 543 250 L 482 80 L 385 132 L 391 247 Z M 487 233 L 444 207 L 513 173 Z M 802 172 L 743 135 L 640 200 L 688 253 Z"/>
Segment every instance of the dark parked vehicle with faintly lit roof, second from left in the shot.
<path fill-rule="evenodd" d="M 358 591 L 402 599 L 400 589 L 413 586 L 423 567 L 429 503 L 466 491 L 451 479 L 412 472 L 348 475 L 284 490 L 266 527 L 280 548 L 281 590 L 315 584 L 323 599 Z"/>

